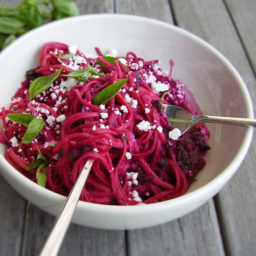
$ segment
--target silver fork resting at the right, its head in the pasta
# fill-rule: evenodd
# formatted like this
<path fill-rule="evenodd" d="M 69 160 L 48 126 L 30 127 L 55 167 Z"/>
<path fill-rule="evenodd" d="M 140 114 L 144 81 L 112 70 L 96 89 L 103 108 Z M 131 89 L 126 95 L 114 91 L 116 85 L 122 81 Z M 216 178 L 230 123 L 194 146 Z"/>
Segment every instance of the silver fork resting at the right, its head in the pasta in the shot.
<path fill-rule="evenodd" d="M 238 126 L 256 126 L 256 119 L 211 115 L 192 115 L 184 108 L 166 104 L 163 105 L 163 108 L 166 111 L 170 125 L 174 128 L 178 128 L 181 131 L 181 134 L 185 133 L 195 124 L 201 122 L 221 123 Z"/>

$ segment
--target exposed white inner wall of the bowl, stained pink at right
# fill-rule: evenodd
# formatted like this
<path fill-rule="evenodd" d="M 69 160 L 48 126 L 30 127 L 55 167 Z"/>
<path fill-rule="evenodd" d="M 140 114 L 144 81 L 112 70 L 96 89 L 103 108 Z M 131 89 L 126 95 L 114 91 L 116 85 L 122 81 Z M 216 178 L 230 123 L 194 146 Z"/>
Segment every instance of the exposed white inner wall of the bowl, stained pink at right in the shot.
<path fill-rule="evenodd" d="M 114 48 L 119 56 L 133 51 L 145 60 L 160 60 L 164 69 L 169 69 L 169 60 L 173 60 L 172 77 L 189 88 L 203 114 L 251 115 L 251 105 L 246 89 L 241 86 L 242 81 L 212 47 L 181 29 L 161 22 L 120 17 L 87 15 L 53 22 L 22 36 L 0 55 L 1 106 L 8 106 L 20 82 L 25 80 L 25 72 L 39 65 L 40 48 L 49 41 L 59 41 L 76 44 L 82 52 L 93 54 L 94 47 L 100 47 L 103 53 Z M 99 31 L 102 23 L 107 29 Z M 227 168 L 245 139 L 246 128 L 243 127 L 216 124 L 208 127 L 211 150 L 205 156 L 207 165 L 187 193 L 206 185 Z M 5 150 L 5 146 L 0 144 L 1 162 L 5 161 Z"/>

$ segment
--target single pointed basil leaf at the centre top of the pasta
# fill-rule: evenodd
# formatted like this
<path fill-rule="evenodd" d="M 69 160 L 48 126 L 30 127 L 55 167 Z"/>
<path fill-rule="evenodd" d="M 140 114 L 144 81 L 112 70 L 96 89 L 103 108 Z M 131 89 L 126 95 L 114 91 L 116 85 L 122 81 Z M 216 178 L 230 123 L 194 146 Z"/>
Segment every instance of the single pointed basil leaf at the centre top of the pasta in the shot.
<path fill-rule="evenodd" d="M 105 105 L 110 99 L 115 97 L 119 93 L 123 85 L 128 81 L 128 78 L 119 80 L 108 87 L 100 91 L 93 100 L 94 105 L 100 106 L 101 104 Z"/>

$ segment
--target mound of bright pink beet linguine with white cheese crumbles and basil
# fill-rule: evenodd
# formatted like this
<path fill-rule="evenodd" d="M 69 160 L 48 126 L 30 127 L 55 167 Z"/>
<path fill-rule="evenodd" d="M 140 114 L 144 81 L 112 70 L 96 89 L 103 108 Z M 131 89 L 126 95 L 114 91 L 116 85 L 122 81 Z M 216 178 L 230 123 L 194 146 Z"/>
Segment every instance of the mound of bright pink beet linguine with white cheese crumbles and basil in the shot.
<path fill-rule="evenodd" d="M 0 112 L 7 161 L 68 195 L 93 159 L 86 202 L 137 205 L 183 195 L 205 165 L 209 131 L 199 125 L 179 136 L 162 104 L 201 114 L 193 95 L 157 60 L 95 49 L 99 57 L 58 42 L 42 47 L 40 66 L 27 71 Z"/>

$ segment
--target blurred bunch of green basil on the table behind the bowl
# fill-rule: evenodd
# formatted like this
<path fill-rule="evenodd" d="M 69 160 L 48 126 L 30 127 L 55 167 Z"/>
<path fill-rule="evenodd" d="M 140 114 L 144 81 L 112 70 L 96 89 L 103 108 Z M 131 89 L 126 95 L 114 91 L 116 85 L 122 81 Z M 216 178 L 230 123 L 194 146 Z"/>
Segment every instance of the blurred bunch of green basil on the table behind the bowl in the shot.
<path fill-rule="evenodd" d="M 44 5 L 44 6 L 42 6 Z M 39 27 L 49 20 L 79 15 L 74 0 L 23 0 L 16 7 L 0 6 L 0 50 L 14 36 Z M 5 36 L 2 37 L 2 34 Z M 12 34 L 11 38 L 6 35 Z"/>

